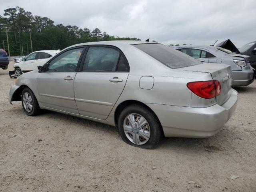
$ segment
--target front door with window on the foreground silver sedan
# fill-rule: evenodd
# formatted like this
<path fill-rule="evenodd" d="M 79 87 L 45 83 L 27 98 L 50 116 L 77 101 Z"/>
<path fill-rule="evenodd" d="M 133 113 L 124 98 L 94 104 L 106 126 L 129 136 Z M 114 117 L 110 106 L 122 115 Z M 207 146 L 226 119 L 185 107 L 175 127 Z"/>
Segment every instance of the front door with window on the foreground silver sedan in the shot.
<path fill-rule="evenodd" d="M 37 88 L 44 108 L 78 114 L 74 78 L 83 50 L 84 46 L 66 50 L 46 64 L 45 72 L 39 73 Z"/>

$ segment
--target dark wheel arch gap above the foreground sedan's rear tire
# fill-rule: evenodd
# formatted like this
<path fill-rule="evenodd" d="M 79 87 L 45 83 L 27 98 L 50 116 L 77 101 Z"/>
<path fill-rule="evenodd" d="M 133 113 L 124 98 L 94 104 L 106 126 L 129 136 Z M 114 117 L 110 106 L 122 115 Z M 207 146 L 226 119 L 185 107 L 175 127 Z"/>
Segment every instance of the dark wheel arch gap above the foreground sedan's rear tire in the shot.
<path fill-rule="evenodd" d="M 158 116 L 156 115 L 156 113 L 149 106 L 147 106 L 146 104 L 144 104 L 140 101 L 137 101 L 137 100 L 126 100 L 126 101 L 123 101 L 120 104 L 118 104 L 118 106 L 116 107 L 116 110 L 115 110 L 115 113 L 114 113 L 114 122 L 115 122 L 116 127 L 118 127 L 118 118 L 119 118 L 119 115 L 120 115 L 121 111 L 124 108 L 126 108 L 127 106 L 132 105 L 132 104 L 139 104 L 141 106 L 146 107 L 148 110 L 150 110 L 156 116 L 156 118 L 158 119 L 158 122 L 161 125 L 161 122 L 160 122 Z M 161 129 L 163 131 L 162 125 L 161 125 Z"/>

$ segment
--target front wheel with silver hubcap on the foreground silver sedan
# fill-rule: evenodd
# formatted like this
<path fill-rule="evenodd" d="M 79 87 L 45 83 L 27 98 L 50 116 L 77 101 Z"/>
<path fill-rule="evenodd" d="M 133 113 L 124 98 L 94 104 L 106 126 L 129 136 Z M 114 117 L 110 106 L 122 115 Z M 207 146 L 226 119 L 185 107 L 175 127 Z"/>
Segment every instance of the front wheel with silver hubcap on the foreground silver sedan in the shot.
<path fill-rule="evenodd" d="M 36 96 L 28 87 L 22 90 L 21 102 L 23 110 L 28 116 L 36 116 L 41 112 Z"/>

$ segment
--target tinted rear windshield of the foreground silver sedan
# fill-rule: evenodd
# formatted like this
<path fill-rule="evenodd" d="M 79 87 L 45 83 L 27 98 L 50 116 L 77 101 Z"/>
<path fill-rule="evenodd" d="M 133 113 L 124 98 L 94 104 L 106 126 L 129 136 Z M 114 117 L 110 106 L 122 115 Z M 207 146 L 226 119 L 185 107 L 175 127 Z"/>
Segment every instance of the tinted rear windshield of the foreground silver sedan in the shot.
<path fill-rule="evenodd" d="M 172 69 L 202 64 L 198 60 L 163 44 L 136 44 L 133 46 Z"/>

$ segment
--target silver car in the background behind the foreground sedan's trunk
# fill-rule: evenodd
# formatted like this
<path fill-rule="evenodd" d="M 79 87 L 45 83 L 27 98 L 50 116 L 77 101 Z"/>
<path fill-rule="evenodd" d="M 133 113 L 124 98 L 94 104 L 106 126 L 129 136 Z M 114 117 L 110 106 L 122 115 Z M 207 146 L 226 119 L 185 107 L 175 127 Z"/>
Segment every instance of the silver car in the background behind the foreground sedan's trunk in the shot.
<path fill-rule="evenodd" d="M 250 56 L 214 46 L 173 46 L 201 62 L 227 64 L 232 69 L 232 86 L 247 86 L 254 81 L 254 70 L 249 64 Z"/>

